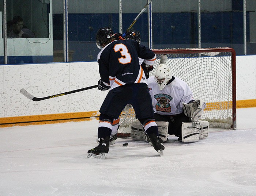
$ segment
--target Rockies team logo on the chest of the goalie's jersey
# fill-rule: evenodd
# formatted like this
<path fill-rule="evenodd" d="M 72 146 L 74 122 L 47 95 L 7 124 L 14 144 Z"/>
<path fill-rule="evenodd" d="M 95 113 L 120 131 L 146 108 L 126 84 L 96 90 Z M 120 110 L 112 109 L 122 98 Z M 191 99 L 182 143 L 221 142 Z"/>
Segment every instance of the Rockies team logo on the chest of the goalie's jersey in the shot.
<path fill-rule="evenodd" d="M 157 100 L 157 104 L 155 105 L 155 109 L 161 112 L 171 112 L 172 107 L 170 106 L 170 101 L 173 100 L 173 97 L 170 95 L 166 95 L 163 93 L 159 93 L 154 95 L 154 98 Z"/>

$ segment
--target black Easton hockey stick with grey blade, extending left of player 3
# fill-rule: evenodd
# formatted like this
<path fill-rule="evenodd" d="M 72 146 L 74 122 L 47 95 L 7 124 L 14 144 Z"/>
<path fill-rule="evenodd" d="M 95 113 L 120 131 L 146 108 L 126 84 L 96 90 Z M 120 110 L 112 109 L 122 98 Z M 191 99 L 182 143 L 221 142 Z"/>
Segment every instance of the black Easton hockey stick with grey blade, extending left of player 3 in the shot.
<path fill-rule="evenodd" d="M 90 87 L 85 87 L 85 88 L 80 88 L 80 89 L 76 89 L 74 91 L 68 91 L 68 92 L 65 92 L 65 93 L 59 93 L 59 94 L 56 94 L 56 95 L 50 95 L 50 96 L 47 96 L 47 97 L 34 97 L 33 95 L 31 95 L 29 92 L 27 92 L 24 88 L 20 89 L 20 93 L 22 95 L 24 95 L 25 97 L 31 99 L 32 101 L 41 101 L 41 100 L 45 100 L 45 99 L 50 99 L 50 98 L 55 98 L 55 97 L 60 97 L 60 96 L 63 96 L 63 95 L 68 95 L 68 94 L 71 94 L 71 93 L 76 93 L 76 92 L 80 92 L 80 91 L 85 91 L 85 90 L 89 90 L 89 89 L 92 89 L 92 88 L 97 88 L 98 85 L 94 85 L 94 86 L 90 86 Z"/>

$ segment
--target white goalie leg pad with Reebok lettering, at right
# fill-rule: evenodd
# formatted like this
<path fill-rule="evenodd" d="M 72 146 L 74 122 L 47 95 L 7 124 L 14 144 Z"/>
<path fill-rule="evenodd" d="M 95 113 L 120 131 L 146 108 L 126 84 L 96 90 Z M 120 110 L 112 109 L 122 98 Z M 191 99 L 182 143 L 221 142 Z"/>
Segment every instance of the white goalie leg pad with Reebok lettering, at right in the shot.
<path fill-rule="evenodd" d="M 199 139 L 207 138 L 208 132 L 209 122 L 206 120 L 182 123 L 181 140 L 182 142 L 197 142 Z"/>

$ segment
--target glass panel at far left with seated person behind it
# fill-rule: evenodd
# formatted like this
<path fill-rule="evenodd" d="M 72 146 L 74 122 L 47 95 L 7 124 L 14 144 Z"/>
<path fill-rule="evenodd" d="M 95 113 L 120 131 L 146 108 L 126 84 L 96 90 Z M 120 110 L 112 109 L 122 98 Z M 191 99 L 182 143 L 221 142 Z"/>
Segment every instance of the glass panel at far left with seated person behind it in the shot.
<path fill-rule="evenodd" d="M 8 64 L 53 62 L 50 0 L 7 1 Z"/>

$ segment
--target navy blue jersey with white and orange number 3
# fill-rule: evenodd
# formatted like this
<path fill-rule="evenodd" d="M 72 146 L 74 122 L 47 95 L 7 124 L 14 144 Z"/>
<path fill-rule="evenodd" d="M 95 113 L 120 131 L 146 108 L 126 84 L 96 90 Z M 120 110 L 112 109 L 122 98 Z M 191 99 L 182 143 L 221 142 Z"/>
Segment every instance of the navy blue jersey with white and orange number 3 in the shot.
<path fill-rule="evenodd" d="M 153 65 L 155 53 L 138 42 L 128 40 L 113 41 L 98 54 L 99 74 L 110 90 L 121 85 L 147 83 L 139 57 L 148 65 Z"/>

